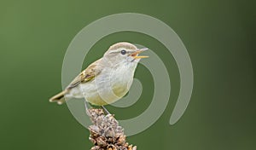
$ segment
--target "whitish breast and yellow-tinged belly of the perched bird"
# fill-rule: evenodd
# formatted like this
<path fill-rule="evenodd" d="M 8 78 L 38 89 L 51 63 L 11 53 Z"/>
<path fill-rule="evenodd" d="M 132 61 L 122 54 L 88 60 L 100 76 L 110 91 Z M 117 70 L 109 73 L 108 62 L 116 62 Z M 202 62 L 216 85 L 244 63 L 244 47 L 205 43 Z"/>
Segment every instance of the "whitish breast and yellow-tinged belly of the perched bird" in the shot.
<path fill-rule="evenodd" d="M 135 70 L 135 69 L 134 69 Z M 131 88 L 134 71 L 127 67 L 116 69 L 105 68 L 90 82 L 79 84 L 71 95 L 76 98 L 85 97 L 94 105 L 106 105 L 118 101 Z"/>

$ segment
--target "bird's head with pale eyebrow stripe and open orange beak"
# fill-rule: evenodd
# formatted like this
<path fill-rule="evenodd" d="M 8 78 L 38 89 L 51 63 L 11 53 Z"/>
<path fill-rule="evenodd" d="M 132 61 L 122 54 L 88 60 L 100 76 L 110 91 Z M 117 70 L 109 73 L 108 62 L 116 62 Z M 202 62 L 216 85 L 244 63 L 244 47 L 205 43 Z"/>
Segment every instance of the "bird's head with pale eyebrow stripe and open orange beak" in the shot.
<path fill-rule="evenodd" d="M 115 65 L 131 65 L 137 64 L 142 58 L 148 56 L 139 55 L 147 48 L 137 49 L 137 47 L 131 43 L 121 42 L 115 43 L 104 54 L 104 57 Z"/>

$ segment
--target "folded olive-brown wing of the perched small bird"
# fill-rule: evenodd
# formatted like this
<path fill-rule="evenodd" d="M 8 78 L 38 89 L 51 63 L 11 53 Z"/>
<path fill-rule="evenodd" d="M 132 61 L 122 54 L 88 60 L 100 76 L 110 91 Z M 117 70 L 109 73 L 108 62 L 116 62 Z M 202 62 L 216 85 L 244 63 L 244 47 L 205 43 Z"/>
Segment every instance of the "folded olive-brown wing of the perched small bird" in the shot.
<path fill-rule="evenodd" d="M 67 86 L 67 89 L 73 89 L 81 83 L 86 83 L 93 80 L 100 72 L 102 72 L 102 66 L 100 65 L 101 61 L 102 59 L 93 62 L 90 64 L 90 66 L 84 69 L 83 72 L 80 72 L 79 76 L 74 78 L 73 81 Z"/>

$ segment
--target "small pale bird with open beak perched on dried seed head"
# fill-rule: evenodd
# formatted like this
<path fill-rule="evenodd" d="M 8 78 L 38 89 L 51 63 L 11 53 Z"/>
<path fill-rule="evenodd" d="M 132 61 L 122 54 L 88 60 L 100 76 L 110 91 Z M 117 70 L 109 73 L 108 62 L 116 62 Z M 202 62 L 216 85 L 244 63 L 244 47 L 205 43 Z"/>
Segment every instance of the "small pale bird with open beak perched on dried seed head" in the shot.
<path fill-rule="evenodd" d="M 128 42 L 114 43 L 49 101 L 61 105 L 70 98 L 84 98 L 101 107 L 119 101 L 131 88 L 138 62 L 148 57 L 139 55 L 146 50 Z"/>

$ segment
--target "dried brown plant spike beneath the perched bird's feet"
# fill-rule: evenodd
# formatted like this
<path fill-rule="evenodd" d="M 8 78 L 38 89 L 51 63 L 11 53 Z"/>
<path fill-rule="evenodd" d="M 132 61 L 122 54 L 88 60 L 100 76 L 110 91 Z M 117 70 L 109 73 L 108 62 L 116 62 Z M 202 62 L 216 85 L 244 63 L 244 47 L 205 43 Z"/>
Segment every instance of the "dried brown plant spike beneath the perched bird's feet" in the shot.
<path fill-rule="evenodd" d="M 87 111 L 93 125 L 90 125 L 90 141 L 95 145 L 91 150 L 137 150 L 126 142 L 124 129 L 112 114 L 105 115 L 102 109 Z"/>

